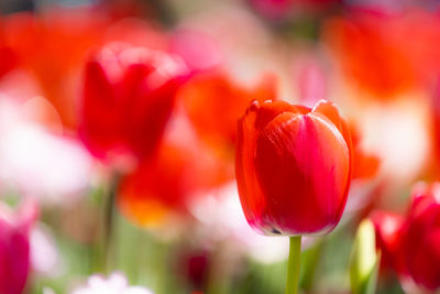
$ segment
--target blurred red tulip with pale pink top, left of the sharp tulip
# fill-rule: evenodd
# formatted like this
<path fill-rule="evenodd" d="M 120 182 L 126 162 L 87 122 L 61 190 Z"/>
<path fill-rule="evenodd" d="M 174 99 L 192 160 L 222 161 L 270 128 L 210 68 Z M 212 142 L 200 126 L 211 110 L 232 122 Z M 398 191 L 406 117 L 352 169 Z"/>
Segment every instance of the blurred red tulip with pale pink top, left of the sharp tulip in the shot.
<path fill-rule="evenodd" d="M 183 83 L 173 56 L 113 43 L 86 65 L 80 135 L 98 157 L 154 152 Z"/>

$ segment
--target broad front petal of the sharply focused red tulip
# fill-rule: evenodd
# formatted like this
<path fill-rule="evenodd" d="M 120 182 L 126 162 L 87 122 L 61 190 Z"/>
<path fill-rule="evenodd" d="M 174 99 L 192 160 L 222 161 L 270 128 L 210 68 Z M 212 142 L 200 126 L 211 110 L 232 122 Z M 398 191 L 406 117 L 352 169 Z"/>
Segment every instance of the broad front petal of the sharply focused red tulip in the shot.
<path fill-rule="evenodd" d="M 350 155 L 332 124 L 314 115 L 277 116 L 257 138 L 254 164 L 266 202 L 263 222 L 287 235 L 334 228 L 345 206 Z"/>

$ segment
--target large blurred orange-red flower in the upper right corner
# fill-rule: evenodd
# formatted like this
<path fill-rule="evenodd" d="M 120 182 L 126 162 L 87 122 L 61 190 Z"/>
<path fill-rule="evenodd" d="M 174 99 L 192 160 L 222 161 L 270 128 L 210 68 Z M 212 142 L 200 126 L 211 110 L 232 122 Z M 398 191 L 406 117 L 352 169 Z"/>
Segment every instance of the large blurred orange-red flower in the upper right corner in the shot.
<path fill-rule="evenodd" d="M 345 78 L 373 97 L 391 99 L 410 89 L 415 69 L 406 46 L 392 39 L 389 19 L 353 11 L 327 21 L 324 41 L 341 64 Z"/>

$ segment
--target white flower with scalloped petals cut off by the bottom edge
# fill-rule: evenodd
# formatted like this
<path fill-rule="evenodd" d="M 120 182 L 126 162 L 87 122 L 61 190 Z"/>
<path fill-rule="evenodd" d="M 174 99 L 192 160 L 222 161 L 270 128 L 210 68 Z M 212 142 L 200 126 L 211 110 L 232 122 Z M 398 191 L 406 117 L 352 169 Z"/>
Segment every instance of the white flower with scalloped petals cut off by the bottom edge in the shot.
<path fill-rule="evenodd" d="M 78 287 L 72 294 L 153 294 L 142 286 L 129 286 L 127 277 L 122 273 L 114 272 L 109 277 L 91 275 L 87 285 Z"/>

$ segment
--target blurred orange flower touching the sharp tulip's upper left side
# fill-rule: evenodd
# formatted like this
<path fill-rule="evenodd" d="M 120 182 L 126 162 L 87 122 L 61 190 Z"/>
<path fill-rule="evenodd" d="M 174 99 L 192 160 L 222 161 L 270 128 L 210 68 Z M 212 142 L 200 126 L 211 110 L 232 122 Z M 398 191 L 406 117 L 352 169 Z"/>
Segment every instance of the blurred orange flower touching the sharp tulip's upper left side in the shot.
<path fill-rule="evenodd" d="M 265 76 L 254 88 L 235 84 L 222 72 L 196 75 L 182 90 L 188 117 L 197 133 L 212 145 L 233 146 L 237 120 L 249 104 L 275 100 L 275 80 Z"/>

